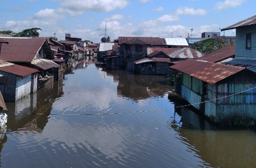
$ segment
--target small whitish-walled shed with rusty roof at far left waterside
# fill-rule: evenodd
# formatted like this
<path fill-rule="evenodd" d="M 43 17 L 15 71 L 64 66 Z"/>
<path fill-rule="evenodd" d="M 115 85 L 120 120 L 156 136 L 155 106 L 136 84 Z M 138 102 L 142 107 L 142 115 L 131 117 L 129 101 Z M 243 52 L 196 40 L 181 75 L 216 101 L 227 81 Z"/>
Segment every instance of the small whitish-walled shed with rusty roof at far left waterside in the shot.
<path fill-rule="evenodd" d="M 37 91 L 37 72 L 34 68 L 0 60 L 0 91 L 5 102 L 15 102 Z"/>

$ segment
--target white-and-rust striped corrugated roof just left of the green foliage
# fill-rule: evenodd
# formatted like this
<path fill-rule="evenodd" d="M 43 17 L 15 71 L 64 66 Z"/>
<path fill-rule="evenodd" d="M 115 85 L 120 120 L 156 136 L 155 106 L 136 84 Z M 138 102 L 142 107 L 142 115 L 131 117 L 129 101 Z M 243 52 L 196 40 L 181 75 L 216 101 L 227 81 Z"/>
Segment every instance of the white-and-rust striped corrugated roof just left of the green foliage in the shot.
<path fill-rule="evenodd" d="M 171 58 L 191 58 L 191 59 L 199 58 L 203 55 L 204 55 L 203 53 L 196 51 L 190 47 L 180 48 L 180 50 L 177 50 L 169 54 Z"/>

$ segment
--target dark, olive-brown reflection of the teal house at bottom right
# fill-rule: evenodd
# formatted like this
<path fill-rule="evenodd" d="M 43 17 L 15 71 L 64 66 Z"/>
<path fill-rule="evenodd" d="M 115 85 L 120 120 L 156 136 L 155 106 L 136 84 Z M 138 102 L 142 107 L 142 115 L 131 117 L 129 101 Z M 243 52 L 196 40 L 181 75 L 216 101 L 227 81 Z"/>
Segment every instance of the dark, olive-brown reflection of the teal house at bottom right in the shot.
<path fill-rule="evenodd" d="M 176 138 L 202 159 L 205 167 L 254 167 L 256 135 L 250 130 L 223 130 L 216 127 L 194 108 L 171 97 L 174 116 L 166 122 L 177 132 Z"/>

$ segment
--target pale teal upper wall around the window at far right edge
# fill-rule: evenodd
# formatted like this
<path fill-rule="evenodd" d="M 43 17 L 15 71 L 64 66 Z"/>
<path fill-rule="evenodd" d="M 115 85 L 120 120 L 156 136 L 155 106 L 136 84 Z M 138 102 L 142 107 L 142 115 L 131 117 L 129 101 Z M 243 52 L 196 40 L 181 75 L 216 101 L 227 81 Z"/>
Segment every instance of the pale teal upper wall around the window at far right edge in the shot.
<path fill-rule="evenodd" d="M 251 50 L 245 49 L 246 34 L 251 33 Z M 235 57 L 256 58 L 256 25 L 238 27 L 235 37 Z"/>

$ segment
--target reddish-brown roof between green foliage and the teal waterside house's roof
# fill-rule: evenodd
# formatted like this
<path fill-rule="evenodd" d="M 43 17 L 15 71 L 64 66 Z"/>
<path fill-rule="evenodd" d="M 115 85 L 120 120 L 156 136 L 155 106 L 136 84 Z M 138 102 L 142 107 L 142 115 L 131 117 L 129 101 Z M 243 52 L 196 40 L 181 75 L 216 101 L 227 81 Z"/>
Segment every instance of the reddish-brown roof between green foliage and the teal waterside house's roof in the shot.
<path fill-rule="evenodd" d="M 227 58 L 234 58 L 235 56 L 235 46 L 225 46 L 220 50 L 216 50 L 209 54 L 205 54 L 204 56 L 198 58 L 198 60 L 204 60 L 209 62 L 220 62 Z"/>

